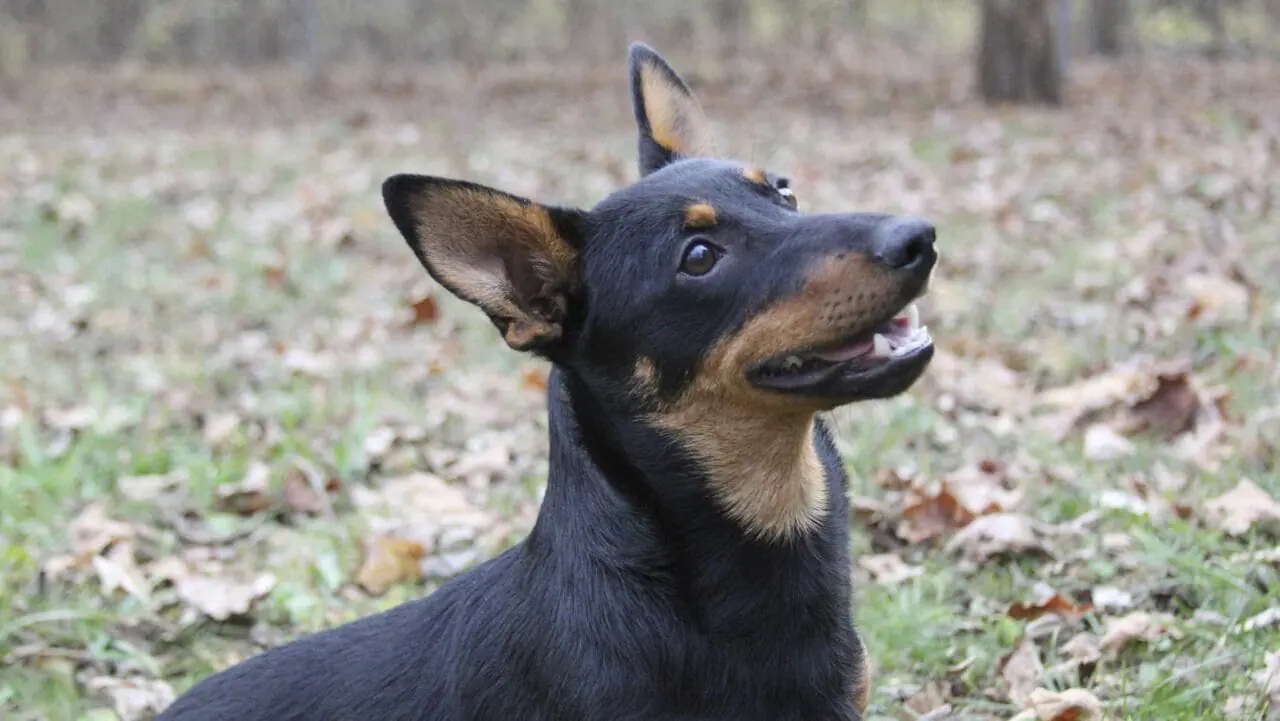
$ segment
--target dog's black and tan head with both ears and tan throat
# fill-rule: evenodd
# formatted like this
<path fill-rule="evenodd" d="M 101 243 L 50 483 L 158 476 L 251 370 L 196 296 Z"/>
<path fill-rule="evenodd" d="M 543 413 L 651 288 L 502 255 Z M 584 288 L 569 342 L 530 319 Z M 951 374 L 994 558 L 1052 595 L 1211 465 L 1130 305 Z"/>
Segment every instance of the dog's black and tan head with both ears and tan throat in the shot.
<path fill-rule="evenodd" d="M 813 475 L 813 414 L 901 393 L 933 355 L 913 305 L 936 263 L 933 228 L 800 211 L 804 188 L 716 156 L 698 101 L 653 50 L 632 46 L 630 69 L 641 178 L 595 207 L 396 175 L 388 211 L 431 277 L 511 347 L 612 385 L 611 397 L 625 391 L 627 410 L 708 467 L 737 455 Z M 708 470 L 723 476 L 713 487 L 736 473 Z M 813 506 L 814 483 L 791 502 Z M 726 501 L 731 515 L 758 516 L 741 507 L 768 493 L 753 493 Z M 800 516 L 748 525 L 765 533 Z"/>

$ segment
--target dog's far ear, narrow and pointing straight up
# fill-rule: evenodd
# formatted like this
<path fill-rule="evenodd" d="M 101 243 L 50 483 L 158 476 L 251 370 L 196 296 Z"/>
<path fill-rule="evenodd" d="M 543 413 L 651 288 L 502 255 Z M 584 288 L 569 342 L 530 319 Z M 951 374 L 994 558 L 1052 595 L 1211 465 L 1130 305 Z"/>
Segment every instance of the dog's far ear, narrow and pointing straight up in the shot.
<path fill-rule="evenodd" d="M 677 158 L 716 154 L 710 123 L 676 70 L 648 45 L 631 45 L 631 102 L 640 127 L 640 175 Z"/>

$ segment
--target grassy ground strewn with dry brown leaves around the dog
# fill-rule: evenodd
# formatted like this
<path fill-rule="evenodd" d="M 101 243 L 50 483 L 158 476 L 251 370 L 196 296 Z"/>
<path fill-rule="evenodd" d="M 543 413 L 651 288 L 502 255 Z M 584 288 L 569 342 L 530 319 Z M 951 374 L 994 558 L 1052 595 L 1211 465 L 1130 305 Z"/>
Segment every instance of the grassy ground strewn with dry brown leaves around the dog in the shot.
<path fill-rule="evenodd" d="M 1280 70 L 1080 67 L 1051 111 L 908 55 L 786 68 L 690 69 L 726 149 L 941 234 L 932 370 L 836 415 L 873 717 L 1265 717 Z M 146 717 L 518 540 L 545 369 L 378 184 L 591 204 L 634 174 L 621 63 L 4 92 L 0 716 Z"/>

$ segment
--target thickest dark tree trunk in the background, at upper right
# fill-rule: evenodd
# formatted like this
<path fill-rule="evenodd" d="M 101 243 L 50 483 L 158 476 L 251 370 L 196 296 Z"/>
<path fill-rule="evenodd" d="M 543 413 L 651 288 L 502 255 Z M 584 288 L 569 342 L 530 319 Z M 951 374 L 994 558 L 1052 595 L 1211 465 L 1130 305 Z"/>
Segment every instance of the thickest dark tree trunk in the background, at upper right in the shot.
<path fill-rule="evenodd" d="M 983 0 L 978 85 L 995 102 L 1062 102 L 1050 0 Z"/>

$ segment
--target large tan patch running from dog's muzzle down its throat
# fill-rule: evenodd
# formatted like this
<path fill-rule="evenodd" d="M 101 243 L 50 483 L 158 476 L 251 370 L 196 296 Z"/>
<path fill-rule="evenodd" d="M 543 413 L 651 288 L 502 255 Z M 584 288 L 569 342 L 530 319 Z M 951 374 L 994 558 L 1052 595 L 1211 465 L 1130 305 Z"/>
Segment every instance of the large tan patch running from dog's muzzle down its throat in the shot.
<path fill-rule="evenodd" d="M 652 416 L 680 439 L 724 514 L 749 533 L 765 539 L 804 534 L 822 521 L 828 499 L 813 444 L 814 415 L 824 402 L 760 391 L 748 370 L 787 351 L 838 341 L 882 315 L 892 289 L 861 256 L 824 260 L 799 293 L 718 342 L 685 393 Z"/>

